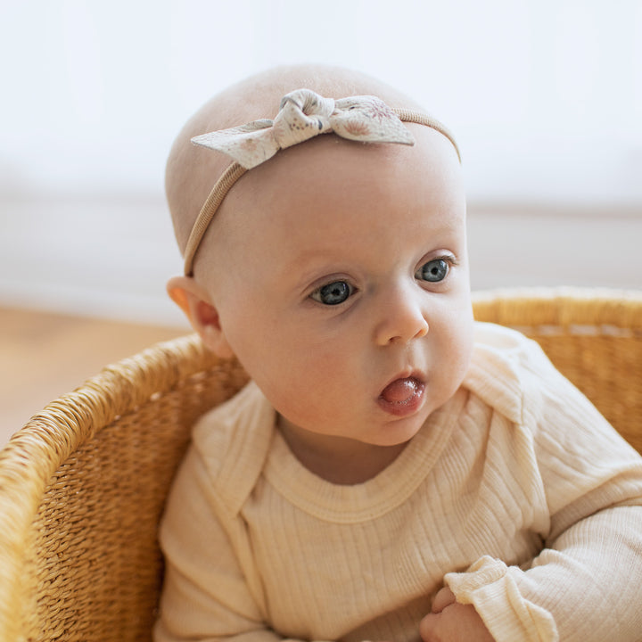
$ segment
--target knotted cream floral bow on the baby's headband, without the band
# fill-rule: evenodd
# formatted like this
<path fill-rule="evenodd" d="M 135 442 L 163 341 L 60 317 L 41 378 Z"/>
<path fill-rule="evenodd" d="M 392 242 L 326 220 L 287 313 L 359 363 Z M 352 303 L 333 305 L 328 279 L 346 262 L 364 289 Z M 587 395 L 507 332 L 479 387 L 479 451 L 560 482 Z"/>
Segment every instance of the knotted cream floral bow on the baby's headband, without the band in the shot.
<path fill-rule="evenodd" d="M 252 169 L 280 149 L 330 132 L 364 143 L 415 144 L 397 114 L 379 98 L 350 96 L 335 101 L 309 89 L 284 95 L 274 120 L 254 120 L 195 136 L 192 142 L 224 152 L 243 168 Z"/>

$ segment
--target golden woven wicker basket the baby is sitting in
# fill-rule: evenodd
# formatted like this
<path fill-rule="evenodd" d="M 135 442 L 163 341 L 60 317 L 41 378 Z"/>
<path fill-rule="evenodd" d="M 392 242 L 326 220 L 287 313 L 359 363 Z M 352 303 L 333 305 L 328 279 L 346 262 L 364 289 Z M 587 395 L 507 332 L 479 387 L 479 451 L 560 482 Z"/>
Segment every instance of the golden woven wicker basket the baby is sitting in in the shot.
<path fill-rule="evenodd" d="M 642 452 L 642 292 L 491 292 L 474 309 L 535 338 Z M 0 642 L 151 640 L 169 485 L 195 419 L 246 381 L 191 335 L 106 367 L 12 437 Z"/>

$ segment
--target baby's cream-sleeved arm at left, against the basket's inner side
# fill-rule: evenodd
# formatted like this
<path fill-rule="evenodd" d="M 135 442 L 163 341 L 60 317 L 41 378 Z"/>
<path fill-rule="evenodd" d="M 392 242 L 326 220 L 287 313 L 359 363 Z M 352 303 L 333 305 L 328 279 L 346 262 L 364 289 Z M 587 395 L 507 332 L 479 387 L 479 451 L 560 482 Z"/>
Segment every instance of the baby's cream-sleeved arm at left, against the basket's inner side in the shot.
<path fill-rule="evenodd" d="M 177 473 L 161 524 L 165 579 L 154 640 L 276 642 L 212 510 L 210 493 L 208 471 L 192 449 Z"/>

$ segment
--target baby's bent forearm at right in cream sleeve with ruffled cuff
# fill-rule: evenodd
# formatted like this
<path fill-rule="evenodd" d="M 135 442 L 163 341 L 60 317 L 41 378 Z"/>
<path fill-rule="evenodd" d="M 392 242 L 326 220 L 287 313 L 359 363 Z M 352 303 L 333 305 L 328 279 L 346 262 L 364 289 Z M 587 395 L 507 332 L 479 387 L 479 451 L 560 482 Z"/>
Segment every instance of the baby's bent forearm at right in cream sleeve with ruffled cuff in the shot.
<path fill-rule="evenodd" d="M 565 531 L 528 570 L 482 557 L 446 581 L 498 640 L 638 642 L 641 539 L 642 507 L 611 508 Z"/>

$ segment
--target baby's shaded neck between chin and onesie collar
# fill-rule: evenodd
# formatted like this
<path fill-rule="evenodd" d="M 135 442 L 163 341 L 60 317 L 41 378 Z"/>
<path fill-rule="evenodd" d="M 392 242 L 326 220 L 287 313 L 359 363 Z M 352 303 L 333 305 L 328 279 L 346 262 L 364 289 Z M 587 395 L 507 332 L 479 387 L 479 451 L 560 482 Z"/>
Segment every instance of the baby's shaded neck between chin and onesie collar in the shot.
<path fill-rule="evenodd" d="M 353 486 L 373 479 L 399 457 L 406 444 L 374 446 L 345 437 L 307 433 L 278 417 L 276 424 L 300 464 L 333 484 Z"/>

